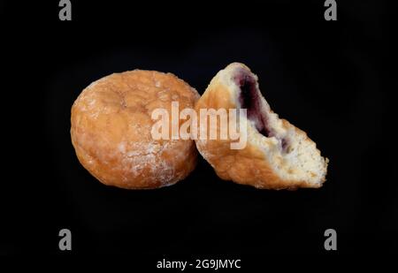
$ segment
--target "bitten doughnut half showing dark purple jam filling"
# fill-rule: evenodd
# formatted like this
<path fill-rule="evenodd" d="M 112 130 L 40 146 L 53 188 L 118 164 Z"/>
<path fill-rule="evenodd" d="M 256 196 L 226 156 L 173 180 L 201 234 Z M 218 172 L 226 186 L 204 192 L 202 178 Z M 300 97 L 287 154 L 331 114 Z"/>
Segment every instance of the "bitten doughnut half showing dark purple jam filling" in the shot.
<path fill-rule="evenodd" d="M 272 112 L 256 75 L 246 65 L 233 63 L 218 72 L 196 102 L 198 117 L 201 109 L 247 109 L 247 125 L 241 125 L 241 132 L 247 135 L 245 148 L 231 149 L 229 136 L 226 140 L 195 140 L 219 178 L 264 189 L 322 186 L 327 158 L 306 133 Z M 217 126 L 219 133 L 220 123 Z M 199 126 L 198 132 L 203 133 Z"/>

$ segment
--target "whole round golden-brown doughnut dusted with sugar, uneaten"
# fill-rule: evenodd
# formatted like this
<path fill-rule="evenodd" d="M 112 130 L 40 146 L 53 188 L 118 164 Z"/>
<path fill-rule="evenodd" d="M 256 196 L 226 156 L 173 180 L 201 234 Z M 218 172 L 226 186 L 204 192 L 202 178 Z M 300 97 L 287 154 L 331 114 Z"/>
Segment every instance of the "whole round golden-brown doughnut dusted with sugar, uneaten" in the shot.
<path fill-rule="evenodd" d="M 108 186 L 169 186 L 195 169 L 193 140 L 154 140 L 152 110 L 172 101 L 193 108 L 198 93 L 172 73 L 113 73 L 86 87 L 73 103 L 71 137 L 80 163 Z M 182 121 L 180 121 L 181 125 Z"/>

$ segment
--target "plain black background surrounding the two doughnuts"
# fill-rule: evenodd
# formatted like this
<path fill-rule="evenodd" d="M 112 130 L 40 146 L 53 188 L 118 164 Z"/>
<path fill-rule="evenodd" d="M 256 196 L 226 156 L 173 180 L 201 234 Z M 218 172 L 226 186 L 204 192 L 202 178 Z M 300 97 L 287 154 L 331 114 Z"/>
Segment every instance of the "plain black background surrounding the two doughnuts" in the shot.
<path fill-rule="evenodd" d="M 396 251 L 390 7 L 337 2 L 338 20 L 325 21 L 324 1 L 72 1 L 70 22 L 59 21 L 58 1 L 1 2 L 0 254 L 63 254 L 62 228 L 73 253 L 330 254 L 328 228 L 337 253 Z M 235 185 L 201 158 L 175 186 L 126 191 L 78 162 L 70 109 L 92 81 L 141 68 L 173 72 L 202 94 L 234 61 L 330 159 L 322 188 Z"/>

